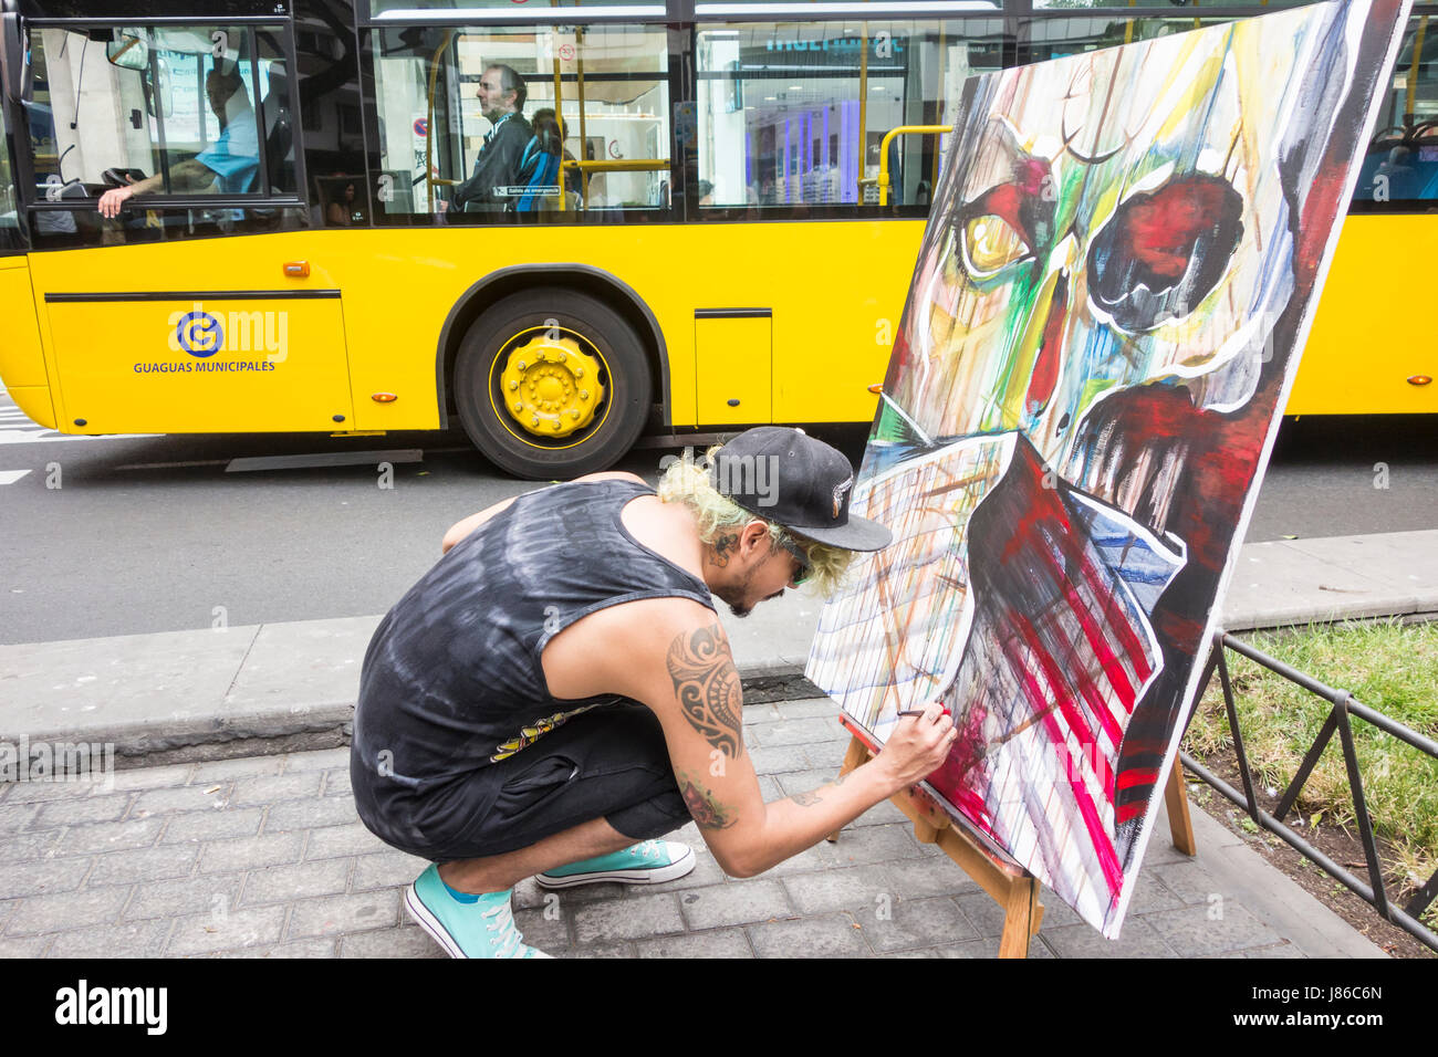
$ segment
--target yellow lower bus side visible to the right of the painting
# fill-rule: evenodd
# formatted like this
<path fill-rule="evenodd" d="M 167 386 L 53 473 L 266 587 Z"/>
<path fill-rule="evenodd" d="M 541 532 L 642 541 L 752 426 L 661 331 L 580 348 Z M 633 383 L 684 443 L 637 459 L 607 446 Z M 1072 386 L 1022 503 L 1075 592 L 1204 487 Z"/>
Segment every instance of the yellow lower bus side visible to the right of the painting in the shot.
<path fill-rule="evenodd" d="M 1438 411 L 1432 247 L 1438 216 L 1350 216 L 1286 414 Z"/>

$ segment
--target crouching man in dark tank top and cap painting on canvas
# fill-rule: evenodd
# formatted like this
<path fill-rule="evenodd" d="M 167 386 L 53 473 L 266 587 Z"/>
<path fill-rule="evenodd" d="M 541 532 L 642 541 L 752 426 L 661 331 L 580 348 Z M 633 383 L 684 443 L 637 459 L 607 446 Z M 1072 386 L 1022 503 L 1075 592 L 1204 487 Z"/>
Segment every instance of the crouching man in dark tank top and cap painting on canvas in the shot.
<path fill-rule="evenodd" d="M 828 591 L 854 551 L 886 546 L 850 516 L 851 485 L 840 452 L 761 427 L 707 467 L 676 462 L 657 495 L 591 473 L 446 534 L 365 653 L 351 777 L 365 825 L 431 860 L 406 907 L 450 955 L 544 956 L 510 915 L 525 877 L 682 877 L 693 851 L 656 838 L 690 818 L 725 873 L 752 877 L 943 762 L 938 705 L 798 798 L 765 804 L 745 751 L 713 600 L 746 616 L 805 580 Z"/>

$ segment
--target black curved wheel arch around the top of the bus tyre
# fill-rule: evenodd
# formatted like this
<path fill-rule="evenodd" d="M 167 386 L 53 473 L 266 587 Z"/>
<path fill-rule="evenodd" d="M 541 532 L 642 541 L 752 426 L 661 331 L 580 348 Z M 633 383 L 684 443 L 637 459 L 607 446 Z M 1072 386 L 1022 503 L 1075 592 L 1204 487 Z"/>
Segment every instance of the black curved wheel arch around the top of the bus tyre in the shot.
<path fill-rule="evenodd" d="M 486 275 L 454 302 L 440 329 L 434 358 L 434 384 L 439 395 L 440 427 L 450 426 L 457 413 L 454 403 L 454 364 L 470 326 L 490 308 L 506 298 L 536 288 L 554 288 L 588 293 L 598 298 L 626 318 L 643 342 L 649 364 L 650 393 L 654 413 L 649 427 L 669 429 L 672 403 L 669 391 L 669 355 L 659 321 L 628 283 L 592 265 L 515 265 Z"/>

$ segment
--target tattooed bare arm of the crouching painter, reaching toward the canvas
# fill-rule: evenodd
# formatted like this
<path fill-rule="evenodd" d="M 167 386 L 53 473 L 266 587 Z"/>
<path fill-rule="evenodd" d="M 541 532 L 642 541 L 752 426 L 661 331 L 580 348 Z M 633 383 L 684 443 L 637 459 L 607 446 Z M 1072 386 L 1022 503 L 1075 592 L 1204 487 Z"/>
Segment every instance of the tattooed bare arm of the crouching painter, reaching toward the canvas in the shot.
<path fill-rule="evenodd" d="M 695 607 L 699 611 L 699 607 Z M 729 640 L 713 616 L 673 637 L 664 670 L 640 699 L 664 728 L 664 741 L 689 813 L 723 871 L 752 877 L 812 847 L 945 761 L 958 736 L 942 708 L 900 720 L 883 752 L 811 792 L 765 804 L 743 745 L 742 690 Z M 673 630 L 673 626 L 670 626 Z"/>

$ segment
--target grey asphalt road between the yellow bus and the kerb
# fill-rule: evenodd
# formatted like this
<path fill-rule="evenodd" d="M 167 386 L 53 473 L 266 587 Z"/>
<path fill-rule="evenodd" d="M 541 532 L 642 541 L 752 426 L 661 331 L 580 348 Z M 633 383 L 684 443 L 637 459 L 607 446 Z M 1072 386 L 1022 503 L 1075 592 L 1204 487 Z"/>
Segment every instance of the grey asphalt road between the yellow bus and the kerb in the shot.
<path fill-rule="evenodd" d="M 58 439 L 7 406 L 0 395 L 7 644 L 384 613 L 453 522 L 532 488 L 457 430 Z M 866 427 L 811 431 L 858 462 Z M 391 460 L 388 482 L 378 454 L 232 463 L 416 449 L 418 462 Z M 615 469 L 653 480 L 672 453 L 636 450 Z M 1426 528 L 1438 528 L 1438 420 L 1306 420 L 1280 433 L 1248 539 Z"/>

